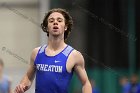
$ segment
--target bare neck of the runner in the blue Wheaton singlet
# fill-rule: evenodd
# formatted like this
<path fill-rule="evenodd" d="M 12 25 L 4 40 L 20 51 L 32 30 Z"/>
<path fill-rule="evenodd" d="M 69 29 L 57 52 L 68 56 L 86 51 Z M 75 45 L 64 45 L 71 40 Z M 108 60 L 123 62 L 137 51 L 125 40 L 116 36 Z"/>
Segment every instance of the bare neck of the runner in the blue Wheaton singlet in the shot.
<path fill-rule="evenodd" d="M 62 46 L 65 46 L 65 42 L 63 38 L 60 37 L 49 37 L 48 38 L 48 47 L 57 50 L 62 48 Z"/>

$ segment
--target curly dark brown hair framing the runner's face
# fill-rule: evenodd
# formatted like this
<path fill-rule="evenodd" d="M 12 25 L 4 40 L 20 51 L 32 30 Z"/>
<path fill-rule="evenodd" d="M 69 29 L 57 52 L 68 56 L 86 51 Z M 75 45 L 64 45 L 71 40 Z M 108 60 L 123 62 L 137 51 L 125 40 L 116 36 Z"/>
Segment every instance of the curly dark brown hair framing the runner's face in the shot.
<path fill-rule="evenodd" d="M 72 30 L 73 20 L 72 20 L 72 17 L 70 16 L 70 14 L 65 9 L 61 9 L 61 8 L 51 9 L 45 15 L 43 23 L 41 24 L 41 28 L 44 32 L 47 33 L 47 36 L 49 36 L 49 32 L 47 31 L 48 17 L 50 16 L 50 14 L 52 14 L 54 12 L 61 13 L 65 18 L 65 24 L 67 26 L 67 30 L 64 32 L 64 40 L 66 40 L 68 38 L 68 35 L 70 34 L 71 30 Z"/>

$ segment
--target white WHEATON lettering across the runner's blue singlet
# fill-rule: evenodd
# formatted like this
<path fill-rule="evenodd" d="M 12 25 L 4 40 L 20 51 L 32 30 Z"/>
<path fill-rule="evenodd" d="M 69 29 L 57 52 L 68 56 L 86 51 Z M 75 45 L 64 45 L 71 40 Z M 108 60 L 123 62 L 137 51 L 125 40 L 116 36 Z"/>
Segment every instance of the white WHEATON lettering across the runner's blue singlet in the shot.
<path fill-rule="evenodd" d="M 36 68 L 39 71 L 62 73 L 63 66 L 47 65 L 47 64 L 36 64 Z"/>

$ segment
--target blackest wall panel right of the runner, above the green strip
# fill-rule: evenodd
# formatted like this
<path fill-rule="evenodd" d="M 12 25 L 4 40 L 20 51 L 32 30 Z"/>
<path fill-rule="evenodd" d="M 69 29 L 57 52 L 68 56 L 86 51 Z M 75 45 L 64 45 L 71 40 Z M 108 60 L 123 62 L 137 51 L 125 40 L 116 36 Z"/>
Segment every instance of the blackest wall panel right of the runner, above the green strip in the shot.
<path fill-rule="evenodd" d="M 127 68 L 127 2 L 90 0 L 88 6 L 97 16 L 88 15 L 89 54 L 108 66 Z"/>

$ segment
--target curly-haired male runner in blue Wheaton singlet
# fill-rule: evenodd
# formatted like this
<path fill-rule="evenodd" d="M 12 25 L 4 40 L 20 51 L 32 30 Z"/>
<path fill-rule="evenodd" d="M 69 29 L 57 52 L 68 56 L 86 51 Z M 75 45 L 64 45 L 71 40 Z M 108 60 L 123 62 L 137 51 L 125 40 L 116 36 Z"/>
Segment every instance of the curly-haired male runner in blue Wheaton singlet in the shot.
<path fill-rule="evenodd" d="M 35 93 L 68 93 L 73 72 L 82 83 L 82 92 L 92 93 L 82 54 L 65 43 L 72 24 L 64 9 L 52 9 L 46 14 L 41 27 L 47 33 L 48 44 L 33 50 L 30 67 L 15 93 L 28 90 L 35 76 Z"/>

